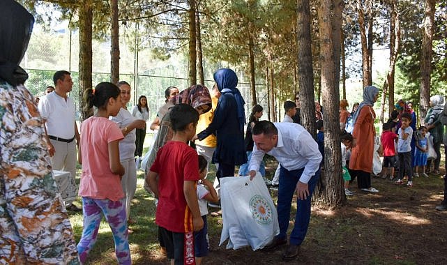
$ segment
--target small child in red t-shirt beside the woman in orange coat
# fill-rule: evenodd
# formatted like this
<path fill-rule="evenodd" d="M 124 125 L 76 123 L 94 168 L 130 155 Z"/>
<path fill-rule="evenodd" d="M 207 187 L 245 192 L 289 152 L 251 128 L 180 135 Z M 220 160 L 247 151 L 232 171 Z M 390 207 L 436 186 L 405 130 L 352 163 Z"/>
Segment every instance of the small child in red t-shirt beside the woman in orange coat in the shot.
<path fill-rule="evenodd" d="M 380 136 L 380 142 L 382 144 L 382 149 L 384 150 L 384 171 L 382 174 L 385 179 L 388 175 L 390 180 L 394 179 L 394 164 L 396 157 L 395 140 L 397 139 L 397 135 L 392 131 L 392 126 L 392 121 L 384 123 L 383 132 Z M 386 169 L 388 169 L 388 172 Z"/>

